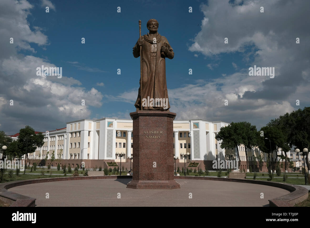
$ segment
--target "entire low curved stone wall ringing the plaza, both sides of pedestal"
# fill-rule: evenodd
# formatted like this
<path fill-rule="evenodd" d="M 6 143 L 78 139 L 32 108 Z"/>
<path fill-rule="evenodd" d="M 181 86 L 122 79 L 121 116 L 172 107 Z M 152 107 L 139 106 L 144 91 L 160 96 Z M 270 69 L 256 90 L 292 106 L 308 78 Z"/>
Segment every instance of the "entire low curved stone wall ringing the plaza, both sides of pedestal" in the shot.
<path fill-rule="evenodd" d="M 0 199 L 5 203 L 11 204 L 10 207 L 34 207 L 35 200 L 34 198 L 10 192 L 7 189 L 36 184 L 44 182 L 53 182 L 53 181 L 72 181 L 72 180 L 91 180 L 91 179 L 117 179 L 117 178 L 132 178 L 132 176 L 80 176 L 80 177 L 56 177 L 56 178 L 42 178 L 26 181 L 12 181 L 7 183 L 0 184 Z M 242 182 L 250 184 L 259 184 L 259 185 L 268 185 L 277 188 L 282 188 L 289 190 L 290 193 L 274 198 L 269 199 L 269 206 L 271 207 L 291 207 L 296 203 L 302 202 L 308 198 L 308 189 L 291 184 L 284 184 L 272 181 L 258 181 L 258 180 L 249 180 L 249 179 L 234 179 L 234 178 L 221 178 L 221 177 L 182 177 L 175 176 L 175 179 L 192 179 L 192 180 L 210 180 L 210 181 L 232 181 L 232 182 Z"/>

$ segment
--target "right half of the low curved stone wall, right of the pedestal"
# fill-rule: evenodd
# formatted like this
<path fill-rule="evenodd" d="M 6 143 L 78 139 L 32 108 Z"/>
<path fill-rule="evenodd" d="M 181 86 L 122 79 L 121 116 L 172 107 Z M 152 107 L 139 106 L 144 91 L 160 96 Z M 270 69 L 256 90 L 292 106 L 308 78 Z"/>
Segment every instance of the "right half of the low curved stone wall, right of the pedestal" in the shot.
<path fill-rule="evenodd" d="M 195 180 L 209 180 L 209 181 L 232 181 L 242 182 L 249 184 L 268 185 L 272 187 L 282 188 L 289 190 L 290 193 L 282 195 L 274 199 L 268 199 L 270 207 L 292 207 L 296 203 L 302 202 L 308 198 L 309 190 L 298 185 L 284 184 L 272 181 L 258 181 L 249 179 L 234 179 L 234 178 L 223 178 L 223 177 L 181 177 L 176 176 L 175 179 L 195 179 Z"/>

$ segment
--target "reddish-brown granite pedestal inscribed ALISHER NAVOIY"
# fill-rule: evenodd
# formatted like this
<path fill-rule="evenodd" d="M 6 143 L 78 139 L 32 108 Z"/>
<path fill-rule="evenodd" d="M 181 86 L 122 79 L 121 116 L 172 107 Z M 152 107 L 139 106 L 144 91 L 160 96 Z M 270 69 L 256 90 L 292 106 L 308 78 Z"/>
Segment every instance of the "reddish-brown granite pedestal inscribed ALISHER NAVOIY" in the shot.
<path fill-rule="evenodd" d="M 136 111 L 133 120 L 132 181 L 127 188 L 176 189 L 174 180 L 173 120 L 169 111 Z"/>

